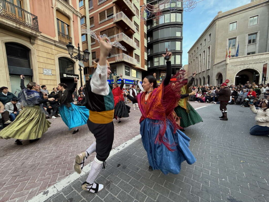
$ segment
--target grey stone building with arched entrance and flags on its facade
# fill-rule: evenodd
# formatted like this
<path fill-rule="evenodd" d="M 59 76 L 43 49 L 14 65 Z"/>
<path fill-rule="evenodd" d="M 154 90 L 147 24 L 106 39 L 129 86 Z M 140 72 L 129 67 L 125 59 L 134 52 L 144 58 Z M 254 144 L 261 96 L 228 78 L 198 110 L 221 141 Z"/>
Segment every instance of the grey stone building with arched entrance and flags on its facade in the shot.
<path fill-rule="evenodd" d="M 205 82 L 217 85 L 226 79 L 229 85 L 246 81 L 269 83 L 268 31 L 268 0 L 252 0 L 238 8 L 218 12 L 188 51 L 188 78 L 197 71 L 195 85 Z M 239 54 L 235 57 L 238 44 Z M 229 47 L 231 58 L 225 58 Z"/>

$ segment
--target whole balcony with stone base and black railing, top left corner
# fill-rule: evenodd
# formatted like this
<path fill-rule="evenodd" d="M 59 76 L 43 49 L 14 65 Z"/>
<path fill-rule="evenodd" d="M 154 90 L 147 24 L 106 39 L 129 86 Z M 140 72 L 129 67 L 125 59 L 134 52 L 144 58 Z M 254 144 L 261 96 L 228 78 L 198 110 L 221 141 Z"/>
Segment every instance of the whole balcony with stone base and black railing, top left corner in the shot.
<path fill-rule="evenodd" d="M 0 0 L 0 16 L 3 16 L 0 17 L 0 27 L 9 27 L 28 36 L 40 36 L 37 16 L 7 0 Z"/>

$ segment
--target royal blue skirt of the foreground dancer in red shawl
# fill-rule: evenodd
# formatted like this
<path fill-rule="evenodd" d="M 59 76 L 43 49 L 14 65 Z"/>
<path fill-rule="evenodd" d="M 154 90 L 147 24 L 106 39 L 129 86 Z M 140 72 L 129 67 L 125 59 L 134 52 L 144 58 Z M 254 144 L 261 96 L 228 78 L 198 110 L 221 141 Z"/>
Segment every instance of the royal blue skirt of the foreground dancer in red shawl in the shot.
<path fill-rule="evenodd" d="M 161 170 L 165 175 L 169 172 L 178 174 L 180 172 L 181 163 L 187 161 L 193 164 L 196 158 L 189 149 L 190 138 L 180 130 L 176 130 L 174 134 L 174 126 L 171 121 L 167 120 L 167 128 L 164 137 L 170 144 L 176 143 L 171 147 L 175 151 L 169 151 L 164 144 L 155 144 L 155 139 L 160 131 L 158 120 L 145 119 L 140 123 L 140 134 L 142 143 L 147 152 L 148 162 L 153 170 Z"/>

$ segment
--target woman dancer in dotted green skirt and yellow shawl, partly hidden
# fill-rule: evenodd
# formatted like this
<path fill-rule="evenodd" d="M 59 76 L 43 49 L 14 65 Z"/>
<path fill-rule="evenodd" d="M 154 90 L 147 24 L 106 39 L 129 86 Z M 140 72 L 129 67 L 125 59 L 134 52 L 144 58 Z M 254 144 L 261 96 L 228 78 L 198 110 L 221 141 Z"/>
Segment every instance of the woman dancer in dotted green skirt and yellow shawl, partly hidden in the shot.
<path fill-rule="evenodd" d="M 196 112 L 195 109 L 190 105 L 190 103 L 187 101 L 189 94 L 189 88 L 192 85 L 194 81 L 194 77 L 196 75 L 196 72 L 192 74 L 192 79 L 190 79 L 189 83 L 182 86 L 181 90 L 181 99 L 178 101 L 178 106 L 175 108 L 175 113 L 178 117 L 180 117 L 180 127 L 184 128 L 194 125 L 196 123 L 199 123 L 203 121 L 203 119 L 200 117 L 200 115 Z M 186 96 L 185 96 L 186 95 Z"/>

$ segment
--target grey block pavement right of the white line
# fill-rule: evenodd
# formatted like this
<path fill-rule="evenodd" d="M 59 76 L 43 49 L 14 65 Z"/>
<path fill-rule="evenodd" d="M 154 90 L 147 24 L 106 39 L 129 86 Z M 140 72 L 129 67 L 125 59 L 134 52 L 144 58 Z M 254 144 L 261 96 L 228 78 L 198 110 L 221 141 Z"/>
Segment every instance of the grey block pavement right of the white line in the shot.
<path fill-rule="evenodd" d="M 81 189 L 86 174 L 46 202 L 269 201 L 269 137 L 249 134 L 255 115 L 235 105 L 228 121 L 219 120 L 219 105 L 197 111 L 204 121 L 185 131 L 197 162 L 183 162 L 180 174 L 150 172 L 139 139 L 107 160 L 96 180 L 105 186 L 100 193 Z"/>

